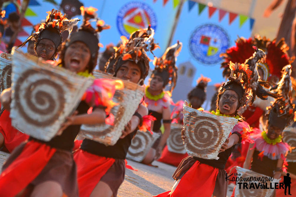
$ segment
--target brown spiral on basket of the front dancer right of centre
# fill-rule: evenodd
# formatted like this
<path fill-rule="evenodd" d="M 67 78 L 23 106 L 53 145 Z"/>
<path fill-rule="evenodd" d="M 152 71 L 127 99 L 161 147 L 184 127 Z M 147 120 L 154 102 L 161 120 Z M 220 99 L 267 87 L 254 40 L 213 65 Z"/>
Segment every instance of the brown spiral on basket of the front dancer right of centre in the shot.
<path fill-rule="evenodd" d="M 214 118 L 195 119 L 194 132 L 188 132 L 187 149 L 191 149 L 193 152 L 197 150 L 200 154 L 206 154 L 211 149 L 215 149 L 222 138 L 222 136 L 215 135 L 220 127 L 220 123 Z"/>

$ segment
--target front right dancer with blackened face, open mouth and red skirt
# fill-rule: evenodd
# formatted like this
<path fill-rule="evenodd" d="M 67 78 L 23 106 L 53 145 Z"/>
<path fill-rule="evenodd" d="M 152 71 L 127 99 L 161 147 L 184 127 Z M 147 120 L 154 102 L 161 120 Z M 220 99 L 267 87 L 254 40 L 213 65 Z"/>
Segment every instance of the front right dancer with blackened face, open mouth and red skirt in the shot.
<path fill-rule="evenodd" d="M 248 64 L 238 64 L 230 62 L 231 75 L 229 81 L 222 85 L 217 99 L 217 110 L 212 111 L 214 115 L 221 115 L 239 119 L 239 123 L 234 126 L 231 136 L 222 145 L 219 159 L 203 159 L 199 157 L 189 156 L 180 163 L 177 170 L 173 174 L 176 180 L 171 191 L 161 193 L 161 196 L 226 196 L 228 181 L 225 180 L 226 171 L 225 164 L 231 155 L 236 144 L 242 140 L 249 141 L 249 134 L 246 129 L 249 125 L 242 121 L 238 113 L 248 103 L 252 102 L 252 97 L 247 95 L 252 92 L 252 83 L 257 82 L 254 76 L 258 72 L 255 69 L 251 72 L 250 68 L 256 66 L 260 61 L 262 51 L 259 50 L 249 58 Z M 251 62 L 251 63 L 250 63 Z M 255 64 L 255 65 L 253 65 Z M 256 68 L 256 67 L 255 67 Z M 259 94 L 259 92 L 258 92 Z M 267 94 L 264 92 L 264 94 Z M 262 95 L 259 95 L 262 96 Z M 185 141 L 184 130 L 181 132 Z"/>

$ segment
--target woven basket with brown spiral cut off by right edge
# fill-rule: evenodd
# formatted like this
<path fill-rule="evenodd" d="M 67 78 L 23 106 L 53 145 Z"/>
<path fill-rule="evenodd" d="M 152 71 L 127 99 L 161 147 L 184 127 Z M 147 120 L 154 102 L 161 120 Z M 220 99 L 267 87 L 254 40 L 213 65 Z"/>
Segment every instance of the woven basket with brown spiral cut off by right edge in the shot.
<path fill-rule="evenodd" d="M 289 144 L 291 147 L 296 147 L 296 128 L 295 127 L 287 127 L 284 129 L 283 133 L 283 141 Z M 288 152 L 286 157 L 287 162 L 296 162 L 296 148 L 292 149 L 292 152 Z"/>

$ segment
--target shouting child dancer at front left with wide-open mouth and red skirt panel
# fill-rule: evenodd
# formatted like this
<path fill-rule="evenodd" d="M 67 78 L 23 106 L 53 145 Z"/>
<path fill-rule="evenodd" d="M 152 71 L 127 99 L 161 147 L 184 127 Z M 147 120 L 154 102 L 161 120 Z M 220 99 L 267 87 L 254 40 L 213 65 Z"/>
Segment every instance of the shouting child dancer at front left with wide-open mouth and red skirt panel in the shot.
<path fill-rule="evenodd" d="M 89 24 L 94 12 L 86 9 L 81 29 L 71 35 L 62 48 L 59 66 L 82 76 L 91 76 L 98 54 L 97 32 Z M 52 24 L 52 22 L 50 23 Z M 59 25 L 59 23 L 52 24 Z M 30 137 L 18 146 L 3 166 L 0 190 L 6 196 L 78 196 L 76 165 L 72 156 L 74 140 L 81 124 L 104 123 L 104 107 L 87 114 L 90 105 L 81 101 L 78 114 L 71 115 L 61 127 L 62 134 L 46 142 Z M 13 184 L 12 184 L 13 183 Z"/>

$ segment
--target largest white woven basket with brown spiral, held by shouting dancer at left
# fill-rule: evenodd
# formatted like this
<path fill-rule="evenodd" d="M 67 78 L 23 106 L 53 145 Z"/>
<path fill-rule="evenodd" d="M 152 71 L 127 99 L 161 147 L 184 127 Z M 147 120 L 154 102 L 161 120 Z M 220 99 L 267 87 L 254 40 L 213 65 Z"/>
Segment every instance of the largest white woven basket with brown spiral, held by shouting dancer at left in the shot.
<path fill-rule="evenodd" d="M 93 79 L 19 51 L 14 51 L 12 65 L 12 126 L 49 141 L 77 108 Z"/>

